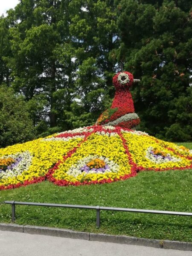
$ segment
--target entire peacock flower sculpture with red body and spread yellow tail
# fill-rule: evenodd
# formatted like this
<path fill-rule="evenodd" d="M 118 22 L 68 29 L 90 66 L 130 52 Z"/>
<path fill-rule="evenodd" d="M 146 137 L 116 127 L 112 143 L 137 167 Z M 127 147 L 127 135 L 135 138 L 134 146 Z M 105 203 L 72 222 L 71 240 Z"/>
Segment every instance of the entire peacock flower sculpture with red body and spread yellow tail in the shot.
<path fill-rule="evenodd" d="M 140 170 L 192 169 L 192 151 L 135 131 L 128 72 L 113 77 L 111 108 L 96 125 L 0 149 L 0 189 L 49 180 L 59 186 L 111 183 Z"/>

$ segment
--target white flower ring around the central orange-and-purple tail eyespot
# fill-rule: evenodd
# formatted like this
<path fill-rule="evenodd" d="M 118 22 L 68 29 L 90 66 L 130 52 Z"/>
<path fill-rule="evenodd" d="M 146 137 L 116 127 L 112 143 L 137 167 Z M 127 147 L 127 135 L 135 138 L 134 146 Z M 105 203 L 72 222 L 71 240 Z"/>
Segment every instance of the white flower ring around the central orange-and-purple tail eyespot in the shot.
<path fill-rule="evenodd" d="M 77 177 L 78 175 L 81 175 L 81 168 L 85 166 L 87 163 L 89 163 L 91 160 L 94 160 L 96 158 L 99 158 L 100 160 L 105 161 L 105 164 L 108 165 L 109 169 L 106 169 L 106 172 L 118 172 L 119 171 L 119 165 L 117 163 L 114 163 L 112 160 L 110 160 L 107 157 L 98 157 L 89 155 L 88 157 L 84 157 L 83 159 L 79 160 L 76 164 L 71 166 L 71 168 L 67 171 L 67 175 L 72 175 L 73 177 Z M 96 171 L 90 170 L 89 173 L 98 173 Z M 84 175 L 87 173 L 84 172 Z"/>

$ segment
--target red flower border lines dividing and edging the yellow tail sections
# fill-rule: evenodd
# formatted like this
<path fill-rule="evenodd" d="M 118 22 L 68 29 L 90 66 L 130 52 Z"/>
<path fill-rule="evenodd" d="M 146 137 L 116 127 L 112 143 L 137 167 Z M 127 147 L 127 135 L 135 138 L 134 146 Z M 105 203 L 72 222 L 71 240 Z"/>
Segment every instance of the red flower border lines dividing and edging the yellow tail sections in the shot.
<path fill-rule="evenodd" d="M 130 177 L 135 177 L 137 175 L 137 172 L 140 172 L 140 171 L 156 171 L 156 172 L 163 172 L 163 171 L 168 171 L 168 170 L 186 170 L 186 169 L 192 169 L 192 164 L 189 165 L 189 166 L 185 166 L 185 167 L 173 167 L 173 168 L 164 168 L 164 169 L 160 169 L 160 168 L 144 168 L 143 166 L 137 166 L 136 163 L 134 163 L 134 160 L 132 159 L 132 156 L 131 156 L 131 153 L 128 149 L 128 145 L 127 145 L 127 142 L 125 140 L 125 138 L 123 137 L 123 134 L 122 134 L 122 127 L 114 127 L 113 130 L 111 129 L 108 129 L 107 127 L 106 128 L 103 128 L 102 126 L 89 126 L 87 127 L 86 129 L 89 130 L 90 128 L 93 129 L 93 131 L 84 131 L 84 132 L 81 132 L 81 133 L 64 133 L 64 134 L 59 134 L 58 136 L 55 136 L 55 137 L 75 137 L 77 135 L 81 136 L 81 135 L 84 135 L 84 139 L 81 141 L 81 143 L 79 143 L 77 145 L 77 147 L 73 148 L 72 150 L 68 151 L 68 153 L 66 155 L 63 156 L 63 159 L 62 160 L 59 160 L 55 166 L 51 169 L 49 169 L 49 171 L 47 172 L 47 174 L 43 177 L 37 177 L 37 178 L 33 178 L 32 180 L 25 180 L 23 183 L 17 183 L 17 184 L 12 184 L 12 185 L 8 185 L 8 186 L 0 186 L 0 190 L 6 190 L 6 189 L 13 189 L 13 188 L 18 188 L 18 187 L 21 187 L 21 186 L 27 186 L 27 185 L 30 185 L 30 184 L 34 184 L 34 183 L 40 183 L 44 180 L 49 180 L 51 181 L 52 183 L 58 185 L 58 186 L 69 186 L 69 185 L 72 185 L 72 186 L 80 186 L 80 185 L 90 185 L 90 184 L 104 184 L 104 183 L 112 183 L 114 181 L 118 181 L 118 180 L 127 180 L 128 178 Z M 132 131 L 128 128 L 123 128 L 124 131 Z M 70 182 L 70 181 L 67 181 L 67 180 L 57 180 L 55 179 L 55 177 L 53 177 L 53 174 L 55 173 L 55 170 L 58 169 L 58 166 L 63 163 L 68 157 L 71 157 L 72 154 L 74 154 L 77 150 L 77 148 L 79 148 L 81 146 L 82 143 L 84 143 L 87 138 L 91 135 L 91 134 L 94 134 L 96 132 L 102 132 L 102 131 L 105 131 L 105 132 L 108 132 L 109 134 L 110 133 L 117 133 L 119 135 L 119 137 L 121 138 L 122 140 L 122 144 L 123 144 L 123 147 L 125 148 L 125 153 L 127 154 L 128 156 L 128 161 L 129 161 L 129 164 L 131 166 L 131 173 L 130 174 L 126 174 L 124 176 L 121 176 L 118 178 L 115 178 L 115 179 L 103 179 L 103 180 L 91 180 L 91 181 L 83 181 L 83 182 L 80 182 L 80 181 L 77 181 L 77 182 Z M 147 135 L 144 135 L 144 136 L 147 136 Z M 156 143 L 160 143 L 159 140 L 155 139 L 155 138 L 151 138 L 153 140 L 156 141 Z M 176 153 L 175 150 L 173 148 L 168 148 L 165 146 L 165 148 L 173 151 L 178 157 L 183 157 L 183 158 L 186 158 L 188 160 L 192 160 L 192 157 L 186 157 L 186 156 L 183 156 L 179 153 Z"/>

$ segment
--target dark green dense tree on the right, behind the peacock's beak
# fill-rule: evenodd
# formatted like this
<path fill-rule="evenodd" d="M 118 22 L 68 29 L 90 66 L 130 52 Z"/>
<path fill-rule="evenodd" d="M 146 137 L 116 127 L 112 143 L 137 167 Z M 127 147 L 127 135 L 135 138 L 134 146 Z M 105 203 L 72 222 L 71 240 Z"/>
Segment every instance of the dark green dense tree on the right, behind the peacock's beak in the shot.
<path fill-rule="evenodd" d="M 133 90 L 141 128 L 166 140 L 191 140 L 192 3 L 154 2 L 122 0 L 117 6 L 117 59 L 142 80 Z"/>

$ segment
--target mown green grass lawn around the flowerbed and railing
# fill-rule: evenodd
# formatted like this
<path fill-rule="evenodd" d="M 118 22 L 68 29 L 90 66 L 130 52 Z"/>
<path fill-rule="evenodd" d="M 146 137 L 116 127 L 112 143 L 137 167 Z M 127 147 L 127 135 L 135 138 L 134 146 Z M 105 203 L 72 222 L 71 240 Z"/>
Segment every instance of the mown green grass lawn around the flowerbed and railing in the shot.
<path fill-rule="evenodd" d="M 192 149 L 192 143 L 178 144 Z M 192 212 L 192 170 L 140 172 L 124 181 L 77 187 L 46 181 L 0 191 L 0 201 L 5 200 Z M 0 205 L 0 222 L 11 222 L 10 205 Z M 96 228 L 95 210 L 16 206 L 15 223 L 192 242 L 192 218 L 187 216 L 101 211 L 101 227 Z"/>

